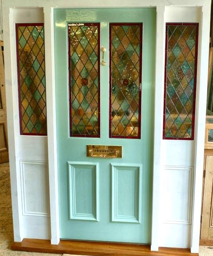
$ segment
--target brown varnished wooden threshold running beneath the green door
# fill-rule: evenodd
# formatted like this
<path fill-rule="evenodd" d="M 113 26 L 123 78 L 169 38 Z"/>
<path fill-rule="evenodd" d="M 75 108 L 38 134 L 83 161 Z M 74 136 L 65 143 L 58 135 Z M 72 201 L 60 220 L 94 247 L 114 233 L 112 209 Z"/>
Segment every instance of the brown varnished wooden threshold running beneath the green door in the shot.
<path fill-rule="evenodd" d="M 27 238 L 23 239 L 22 242 L 14 242 L 11 249 L 92 256 L 199 256 L 199 254 L 192 254 L 189 249 L 159 248 L 159 252 L 153 252 L 150 250 L 150 245 L 71 240 L 61 240 L 58 245 L 54 245 L 50 244 L 50 240 Z"/>

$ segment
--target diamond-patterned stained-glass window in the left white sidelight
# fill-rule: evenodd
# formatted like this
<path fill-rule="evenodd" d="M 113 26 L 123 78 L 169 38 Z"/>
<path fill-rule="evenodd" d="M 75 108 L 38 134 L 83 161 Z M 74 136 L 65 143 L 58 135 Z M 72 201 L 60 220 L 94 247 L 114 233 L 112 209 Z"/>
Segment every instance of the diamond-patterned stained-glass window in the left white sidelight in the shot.
<path fill-rule="evenodd" d="M 16 24 L 20 133 L 46 135 L 44 24 Z"/>

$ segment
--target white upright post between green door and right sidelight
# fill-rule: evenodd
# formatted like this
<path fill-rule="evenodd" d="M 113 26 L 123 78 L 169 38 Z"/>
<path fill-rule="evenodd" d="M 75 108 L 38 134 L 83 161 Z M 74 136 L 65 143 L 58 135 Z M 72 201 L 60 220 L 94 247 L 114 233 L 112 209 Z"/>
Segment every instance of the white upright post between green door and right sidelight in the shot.
<path fill-rule="evenodd" d="M 160 214 L 160 175 L 163 169 L 163 93 L 165 58 L 165 6 L 157 6 L 155 59 L 155 124 L 153 155 L 153 196 L 151 250 L 158 251 Z"/>

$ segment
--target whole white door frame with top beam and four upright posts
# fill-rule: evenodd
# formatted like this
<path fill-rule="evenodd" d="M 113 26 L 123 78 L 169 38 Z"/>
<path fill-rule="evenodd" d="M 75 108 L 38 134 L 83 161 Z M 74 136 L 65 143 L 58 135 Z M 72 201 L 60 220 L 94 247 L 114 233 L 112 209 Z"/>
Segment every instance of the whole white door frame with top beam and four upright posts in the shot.
<path fill-rule="evenodd" d="M 154 152 L 153 152 L 153 199 L 152 199 L 152 230 L 151 250 L 158 250 L 161 245 L 162 229 L 162 173 L 165 157 L 165 141 L 163 133 L 163 92 L 164 92 L 164 58 L 165 58 L 165 22 L 199 22 L 199 51 L 197 72 L 197 106 L 195 116 L 195 160 L 193 178 L 193 204 L 191 222 L 191 252 L 199 250 L 199 231 L 201 216 L 202 176 L 204 136 L 205 136 L 205 108 L 207 95 L 207 72 L 209 55 L 210 29 L 210 0 L 109 0 L 100 2 L 94 0 L 89 4 L 86 0 L 70 2 L 68 0 L 8 0 L 2 2 L 5 44 L 5 77 L 6 102 L 8 116 L 8 144 L 10 155 L 10 175 L 12 185 L 12 207 L 14 221 L 14 238 L 16 242 L 24 238 L 22 221 L 22 204 L 20 193 L 20 158 L 18 152 L 18 124 L 17 119 L 17 91 L 16 91 L 16 51 L 14 50 L 14 16 L 13 8 L 43 8 L 45 24 L 45 59 L 46 59 L 46 94 L 48 95 L 47 122 L 48 122 L 48 164 L 50 181 L 50 216 L 51 216 L 51 243 L 60 241 L 59 209 L 58 209 L 58 170 L 57 170 L 57 143 L 56 143 L 56 100 L 54 79 L 54 8 L 110 8 L 110 7 L 156 7 L 156 59 L 155 59 L 155 114 L 154 114 Z M 195 7 L 196 6 L 196 7 Z M 175 15 L 176 8 L 189 8 L 195 16 Z M 184 10 L 185 10 L 184 9 Z M 171 16 L 167 15 L 167 11 Z M 184 12 L 183 12 L 184 14 Z M 180 20 L 182 18 L 182 20 Z M 162 61 L 163 60 L 163 61 Z M 200 85 L 203 85 L 202 87 Z M 205 86 L 206 85 L 206 86 Z M 199 126 L 198 126 L 199 124 Z"/>

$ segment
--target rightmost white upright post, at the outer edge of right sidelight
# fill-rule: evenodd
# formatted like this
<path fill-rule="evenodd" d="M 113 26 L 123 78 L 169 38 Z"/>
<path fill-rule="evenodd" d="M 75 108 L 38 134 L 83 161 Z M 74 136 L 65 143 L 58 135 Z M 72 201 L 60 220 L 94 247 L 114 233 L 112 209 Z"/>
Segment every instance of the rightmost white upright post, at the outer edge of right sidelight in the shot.
<path fill-rule="evenodd" d="M 203 156 L 205 137 L 205 116 L 207 98 L 207 77 L 209 60 L 209 31 L 210 31 L 211 1 L 202 8 L 201 23 L 199 26 L 197 95 L 195 116 L 195 170 L 193 190 L 193 210 L 191 223 L 191 252 L 199 252 Z"/>

